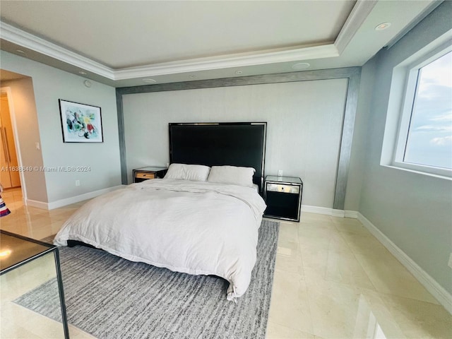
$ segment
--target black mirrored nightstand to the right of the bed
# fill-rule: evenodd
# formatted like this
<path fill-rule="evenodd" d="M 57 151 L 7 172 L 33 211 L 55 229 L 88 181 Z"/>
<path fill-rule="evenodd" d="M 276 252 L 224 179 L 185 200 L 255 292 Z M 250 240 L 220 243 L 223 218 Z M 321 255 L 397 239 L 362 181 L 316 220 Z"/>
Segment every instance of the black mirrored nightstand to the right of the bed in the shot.
<path fill-rule="evenodd" d="M 264 217 L 299 221 L 303 182 L 297 177 L 266 177 Z"/>

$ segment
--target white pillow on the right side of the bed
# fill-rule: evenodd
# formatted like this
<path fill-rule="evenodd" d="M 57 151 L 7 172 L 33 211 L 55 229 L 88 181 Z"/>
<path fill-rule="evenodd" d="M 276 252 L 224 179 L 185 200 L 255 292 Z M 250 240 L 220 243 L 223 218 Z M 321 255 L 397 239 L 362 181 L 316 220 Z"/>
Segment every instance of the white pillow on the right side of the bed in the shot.
<path fill-rule="evenodd" d="M 252 167 L 212 166 L 207 181 L 253 187 L 254 172 Z"/>

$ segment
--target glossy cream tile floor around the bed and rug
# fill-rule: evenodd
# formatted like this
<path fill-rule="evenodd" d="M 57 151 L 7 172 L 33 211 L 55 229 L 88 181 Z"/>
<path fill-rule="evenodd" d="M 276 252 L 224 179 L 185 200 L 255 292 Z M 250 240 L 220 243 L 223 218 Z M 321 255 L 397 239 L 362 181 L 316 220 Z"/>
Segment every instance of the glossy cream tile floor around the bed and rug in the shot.
<path fill-rule="evenodd" d="M 0 228 L 35 239 L 83 204 L 41 210 L 23 206 L 20 189 L 2 197 L 12 213 Z M 452 338 L 452 316 L 358 220 L 302 213 L 280 223 L 267 338 Z"/>

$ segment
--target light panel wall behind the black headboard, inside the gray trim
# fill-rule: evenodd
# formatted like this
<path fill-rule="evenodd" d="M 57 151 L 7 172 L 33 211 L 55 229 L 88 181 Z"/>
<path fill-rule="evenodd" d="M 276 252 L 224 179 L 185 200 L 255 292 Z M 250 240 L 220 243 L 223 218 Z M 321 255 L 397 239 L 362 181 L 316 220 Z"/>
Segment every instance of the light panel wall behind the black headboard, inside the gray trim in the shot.
<path fill-rule="evenodd" d="M 123 95 L 126 164 L 169 162 L 169 122 L 267 121 L 266 174 L 301 177 L 303 205 L 333 208 L 347 79 Z"/>

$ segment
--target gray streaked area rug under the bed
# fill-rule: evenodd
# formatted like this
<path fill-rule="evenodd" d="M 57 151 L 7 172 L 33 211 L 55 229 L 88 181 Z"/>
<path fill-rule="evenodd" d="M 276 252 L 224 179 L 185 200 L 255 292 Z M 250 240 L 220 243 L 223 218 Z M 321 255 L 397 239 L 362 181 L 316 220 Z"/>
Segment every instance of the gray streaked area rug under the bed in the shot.
<path fill-rule="evenodd" d="M 263 220 L 251 284 L 237 304 L 227 281 L 174 273 L 85 246 L 60 248 L 71 325 L 100 339 L 265 338 L 279 223 Z M 61 321 L 56 280 L 14 302 Z M 53 298 L 53 299 L 52 299 Z"/>

